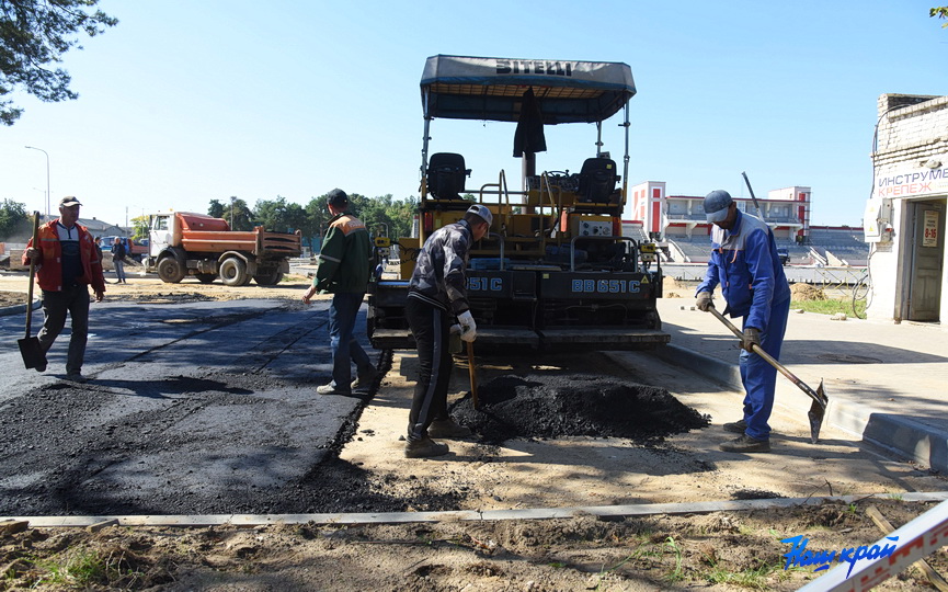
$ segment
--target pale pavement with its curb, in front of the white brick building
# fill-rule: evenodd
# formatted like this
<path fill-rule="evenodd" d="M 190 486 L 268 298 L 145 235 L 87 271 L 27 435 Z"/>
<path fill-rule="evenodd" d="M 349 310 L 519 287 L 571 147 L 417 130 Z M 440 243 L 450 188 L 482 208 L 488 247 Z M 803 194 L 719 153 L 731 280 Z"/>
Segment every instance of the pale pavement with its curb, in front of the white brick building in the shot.
<path fill-rule="evenodd" d="M 692 298 L 661 298 L 671 343 L 655 355 L 743 390 L 738 340 Z M 780 363 L 830 398 L 824 423 L 940 473 L 948 473 L 948 329 L 790 312 Z M 777 376 L 776 403 L 810 408 L 810 398 Z M 735 410 L 735 414 L 736 414 Z"/>

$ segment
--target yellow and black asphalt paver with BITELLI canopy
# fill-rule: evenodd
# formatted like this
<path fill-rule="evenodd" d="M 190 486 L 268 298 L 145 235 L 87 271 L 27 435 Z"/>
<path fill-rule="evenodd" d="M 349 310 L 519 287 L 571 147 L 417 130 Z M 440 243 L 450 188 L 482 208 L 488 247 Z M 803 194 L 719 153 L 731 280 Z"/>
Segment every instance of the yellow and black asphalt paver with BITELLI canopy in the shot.
<path fill-rule="evenodd" d="M 655 306 L 662 295 L 655 246 L 621 231 L 629 175 L 628 103 L 635 94 L 626 64 L 427 58 L 421 79 L 418 236 L 392 241 L 400 253 L 399 277 L 388 273 L 369 285 L 367 332 L 373 345 L 414 346 L 404 304 L 416 253 L 433 231 L 460 219 L 471 202 L 493 214 L 489 234 L 469 253 L 467 289 L 478 344 L 547 351 L 648 350 L 667 343 Z M 613 127 L 625 132 L 621 171 L 603 149 L 604 124 L 620 112 L 624 116 Z M 468 187 L 472 170 L 464 147 L 433 150 L 437 119 L 478 122 L 470 134 L 452 135 L 465 139 L 506 127 L 482 122 L 512 124 L 507 128 L 514 156 L 523 159 L 519 186 L 511 187 L 500 169 L 487 171 L 482 183 Z M 579 171 L 571 173 L 567 163 L 540 170 L 537 152 L 546 150 L 546 129 L 580 123 L 589 124 L 594 135 L 589 158 L 575 162 Z M 377 247 L 387 248 L 386 241 Z"/>

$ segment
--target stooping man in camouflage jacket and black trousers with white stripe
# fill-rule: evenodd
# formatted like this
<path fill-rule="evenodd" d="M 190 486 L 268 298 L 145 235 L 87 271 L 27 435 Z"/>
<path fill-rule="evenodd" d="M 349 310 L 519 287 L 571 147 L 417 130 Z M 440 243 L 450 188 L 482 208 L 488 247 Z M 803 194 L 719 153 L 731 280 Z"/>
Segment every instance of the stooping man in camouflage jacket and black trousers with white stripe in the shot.
<path fill-rule="evenodd" d="M 471 433 L 447 413 L 453 367 L 448 338 L 456 322 L 464 341 L 477 338 L 477 323 L 467 299 L 467 257 L 470 246 L 483 238 L 492 220 L 487 206 L 475 204 L 464 218 L 435 230 L 419 251 L 404 305 L 418 345 L 418 383 L 404 447 L 409 458 L 447 454 L 447 444 L 432 437 L 465 437 Z"/>

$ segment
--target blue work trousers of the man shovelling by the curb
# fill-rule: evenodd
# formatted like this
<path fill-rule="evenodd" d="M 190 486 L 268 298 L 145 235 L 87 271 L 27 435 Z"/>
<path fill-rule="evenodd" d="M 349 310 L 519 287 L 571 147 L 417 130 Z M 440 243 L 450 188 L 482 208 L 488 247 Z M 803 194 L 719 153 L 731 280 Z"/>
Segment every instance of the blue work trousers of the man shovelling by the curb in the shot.
<path fill-rule="evenodd" d="M 761 331 L 761 346 L 774 360 L 780 360 L 780 346 L 787 331 L 787 317 L 790 314 L 790 299 L 770 306 L 767 330 Z M 746 322 L 746 317 L 744 318 Z M 777 387 L 777 368 L 755 353 L 741 350 L 741 382 L 744 384 L 745 434 L 755 440 L 769 440 L 770 411 L 774 409 L 774 391 Z"/>

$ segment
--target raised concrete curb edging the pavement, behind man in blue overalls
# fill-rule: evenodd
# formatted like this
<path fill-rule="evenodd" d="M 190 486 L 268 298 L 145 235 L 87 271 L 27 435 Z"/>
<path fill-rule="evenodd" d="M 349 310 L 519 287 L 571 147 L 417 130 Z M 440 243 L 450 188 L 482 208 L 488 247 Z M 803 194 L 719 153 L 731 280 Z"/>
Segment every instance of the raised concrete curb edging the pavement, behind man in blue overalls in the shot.
<path fill-rule="evenodd" d="M 686 367 L 739 392 L 744 390 L 741 371 L 735 363 L 723 362 L 673 344 L 658 348 L 654 354 L 663 362 Z M 778 379 L 780 378 L 778 376 Z M 790 409 L 779 399 L 775 405 Z M 901 458 L 948 474 L 948 434 L 920 421 L 892 415 L 868 405 L 832 397 L 823 421 Z"/>

